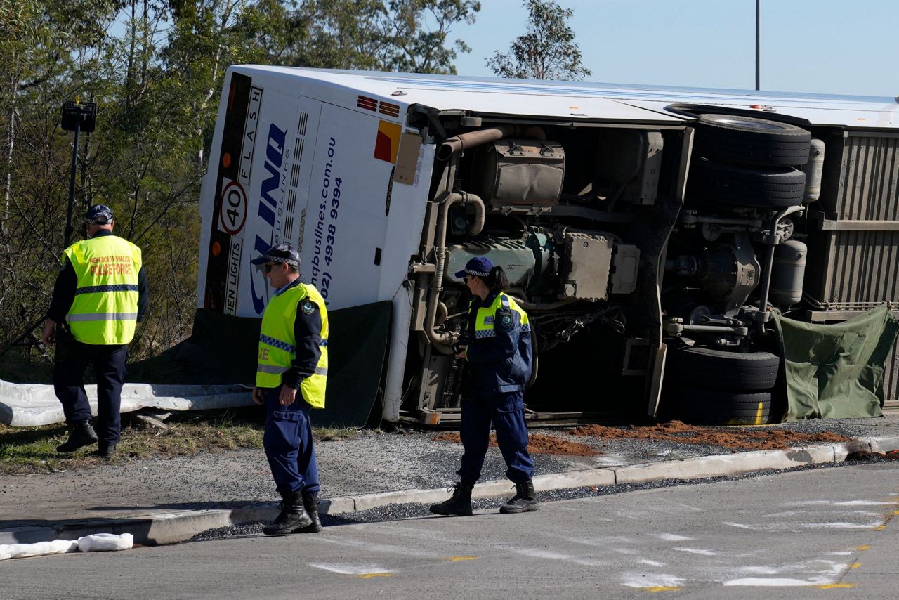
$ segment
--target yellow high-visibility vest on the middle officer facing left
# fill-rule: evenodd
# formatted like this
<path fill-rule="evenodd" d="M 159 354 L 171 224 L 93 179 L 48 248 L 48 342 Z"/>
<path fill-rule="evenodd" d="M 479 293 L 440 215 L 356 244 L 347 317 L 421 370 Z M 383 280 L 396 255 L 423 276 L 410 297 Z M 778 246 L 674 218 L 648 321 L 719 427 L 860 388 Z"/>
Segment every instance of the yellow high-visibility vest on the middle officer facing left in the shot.
<path fill-rule="evenodd" d="M 316 288 L 307 283 L 282 291 L 274 296 L 263 312 L 263 326 L 259 331 L 259 363 L 256 366 L 256 386 L 277 388 L 281 384 L 281 373 L 290 368 L 297 357 L 297 338 L 293 326 L 297 320 L 297 309 L 312 302 L 318 307 L 322 317 L 322 332 L 316 371 L 300 382 L 299 391 L 309 404 L 316 408 L 325 407 L 325 384 L 328 378 L 328 313 L 325 299 Z"/>

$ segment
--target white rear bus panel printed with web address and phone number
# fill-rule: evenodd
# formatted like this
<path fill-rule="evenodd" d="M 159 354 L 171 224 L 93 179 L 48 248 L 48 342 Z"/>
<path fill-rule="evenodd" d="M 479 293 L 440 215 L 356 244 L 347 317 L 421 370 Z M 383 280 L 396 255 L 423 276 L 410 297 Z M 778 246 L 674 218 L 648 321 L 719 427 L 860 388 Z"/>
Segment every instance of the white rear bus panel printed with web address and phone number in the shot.
<path fill-rule="evenodd" d="M 387 239 L 388 219 L 396 218 L 393 210 L 388 213 L 387 201 L 400 126 L 376 115 L 318 104 L 308 198 L 300 217 L 303 281 L 321 291 L 330 309 L 390 300 L 401 277 L 396 264 L 387 268 L 385 245 L 404 241 Z M 414 237 L 419 235 L 420 226 Z M 408 256 L 399 271 L 405 273 L 407 263 Z M 388 286 L 393 290 L 384 294 L 387 279 L 393 280 Z"/>

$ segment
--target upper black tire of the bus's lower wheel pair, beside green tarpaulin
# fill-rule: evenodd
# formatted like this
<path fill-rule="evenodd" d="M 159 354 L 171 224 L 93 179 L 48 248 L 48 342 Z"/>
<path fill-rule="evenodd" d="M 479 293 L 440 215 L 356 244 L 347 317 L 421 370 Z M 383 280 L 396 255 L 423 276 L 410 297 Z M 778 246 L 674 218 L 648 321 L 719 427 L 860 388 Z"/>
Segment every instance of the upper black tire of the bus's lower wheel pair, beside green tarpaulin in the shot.
<path fill-rule="evenodd" d="M 702 390 L 770 390 L 778 379 L 780 359 L 770 352 L 729 352 L 684 346 L 672 353 L 674 381 Z"/>

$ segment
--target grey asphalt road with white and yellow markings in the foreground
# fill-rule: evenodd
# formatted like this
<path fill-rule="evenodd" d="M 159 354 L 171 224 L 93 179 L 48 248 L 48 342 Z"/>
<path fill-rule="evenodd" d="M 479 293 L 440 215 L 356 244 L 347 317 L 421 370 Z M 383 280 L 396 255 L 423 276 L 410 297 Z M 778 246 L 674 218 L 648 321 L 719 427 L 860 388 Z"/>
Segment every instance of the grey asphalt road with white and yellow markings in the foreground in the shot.
<path fill-rule="evenodd" d="M 899 465 L 0 563 L 4 598 L 894 598 Z"/>

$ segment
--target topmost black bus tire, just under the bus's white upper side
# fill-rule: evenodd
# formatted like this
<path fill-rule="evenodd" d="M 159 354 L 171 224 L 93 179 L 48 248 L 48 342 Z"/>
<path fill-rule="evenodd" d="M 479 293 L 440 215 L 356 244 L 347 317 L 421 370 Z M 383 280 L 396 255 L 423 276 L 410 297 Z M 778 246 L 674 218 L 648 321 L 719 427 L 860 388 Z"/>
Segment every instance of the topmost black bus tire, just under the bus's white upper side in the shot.
<path fill-rule="evenodd" d="M 808 162 L 812 134 L 796 125 L 728 114 L 700 114 L 693 127 L 694 156 L 756 166 L 802 166 Z"/>

